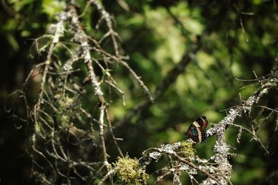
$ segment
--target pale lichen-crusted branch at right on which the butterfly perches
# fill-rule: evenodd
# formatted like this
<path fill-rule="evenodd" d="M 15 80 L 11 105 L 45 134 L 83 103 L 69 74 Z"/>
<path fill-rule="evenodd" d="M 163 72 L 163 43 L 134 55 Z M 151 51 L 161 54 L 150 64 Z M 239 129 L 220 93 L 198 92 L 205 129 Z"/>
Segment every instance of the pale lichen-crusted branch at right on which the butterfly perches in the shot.
<path fill-rule="evenodd" d="M 267 148 L 265 148 L 263 143 L 260 141 L 259 136 L 256 135 L 254 127 L 251 127 L 250 130 L 242 125 L 234 123 L 234 121 L 236 118 L 239 118 L 244 114 L 251 114 L 252 108 L 256 107 L 259 100 L 263 98 L 265 94 L 268 94 L 270 89 L 277 87 L 277 74 L 277 71 L 272 71 L 268 79 L 260 80 L 259 84 L 261 84 L 261 87 L 257 89 L 252 96 L 247 98 L 247 100 L 243 101 L 243 105 L 235 106 L 229 109 L 227 116 L 225 116 L 220 123 L 213 124 L 211 129 L 207 131 L 208 136 L 216 136 L 213 150 L 214 155 L 209 159 L 199 159 L 194 152 L 189 152 L 191 155 L 187 157 L 181 155 L 181 153 L 183 153 L 181 152 L 181 148 L 184 143 L 190 142 L 184 141 L 184 143 L 178 142 L 174 144 L 162 145 L 159 148 L 149 148 L 148 150 L 145 150 L 142 152 L 142 157 L 140 158 L 142 166 L 147 166 L 152 161 L 162 160 L 162 156 L 166 155 L 169 161 L 167 162 L 167 166 L 158 170 L 161 171 L 162 175 L 157 178 L 157 181 L 161 181 L 167 175 L 173 175 L 173 184 L 181 184 L 179 176 L 181 175 L 181 172 L 184 172 L 189 175 L 192 183 L 197 182 L 195 176 L 197 176 L 196 170 L 199 170 L 204 173 L 207 178 L 203 179 L 201 183 L 197 182 L 198 184 L 232 184 L 230 180 L 232 166 L 229 163 L 229 156 L 233 156 L 233 154 L 229 151 L 230 146 L 227 144 L 225 139 L 226 130 L 229 127 L 236 127 L 239 129 L 239 134 L 236 138 L 238 143 L 242 131 L 250 133 L 252 139 L 257 141 L 265 152 L 268 153 Z M 272 109 L 271 111 L 275 112 L 275 109 Z M 191 150 L 190 146 L 190 143 L 186 144 L 187 151 Z M 163 170 L 166 170 L 166 172 L 163 173 Z"/>

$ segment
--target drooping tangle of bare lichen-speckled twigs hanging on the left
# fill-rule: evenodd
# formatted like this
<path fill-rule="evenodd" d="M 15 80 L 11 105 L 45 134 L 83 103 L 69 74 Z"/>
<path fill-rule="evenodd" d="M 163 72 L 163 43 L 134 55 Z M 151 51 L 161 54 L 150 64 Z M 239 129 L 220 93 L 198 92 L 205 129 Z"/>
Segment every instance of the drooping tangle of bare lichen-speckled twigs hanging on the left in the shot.
<path fill-rule="evenodd" d="M 82 17 L 89 8 L 100 15 L 95 33 L 101 37 L 92 37 L 83 26 Z M 124 91 L 117 87 L 113 67 L 120 64 L 127 69 L 152 99 L 127 58 L 120 55 L 120 37 L 101 2 L 88 1 L 81 15 L 79 10 L 76 1 L 68 1 L 56 16 L 56 23 L 49 26 L 49 33 L 34 39 L 32 49 L 46 59 L 31 70 L 22 89 L 11 94 L 24 100 L 26 116 L 17 116 L 17 107 L 6 109 L 33 127 L 26 152 L 32 158 L 31 175 L 42 184 L 72 184 L 73 180 L 95 184 L 106 178 L 113 184 L 106 133 L 111 134 L 112 143 L 124 157 L 117 143 L 122 139 L 113 133 L 109 118 L 111 101 L 106 101 L 111 88 L 120 92 L 124 103 Z M 103 44 L 109 40 L 112 51 Z M 28 85 L 34 83 L 34 76 L 40 81 L 40 89 L 37 98 L 29 100 Z"/>

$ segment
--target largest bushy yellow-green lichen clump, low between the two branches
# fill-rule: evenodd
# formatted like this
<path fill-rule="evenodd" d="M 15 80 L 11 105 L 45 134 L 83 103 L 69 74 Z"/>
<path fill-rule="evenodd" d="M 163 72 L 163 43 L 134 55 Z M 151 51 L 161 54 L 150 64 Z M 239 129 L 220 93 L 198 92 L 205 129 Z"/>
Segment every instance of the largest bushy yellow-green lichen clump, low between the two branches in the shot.
<path fill-rule="evenodd" d="M 145 173 L 145 168 L 140 166 L 138 159 L 119 157 L 113 165 L 118 169 L 117 175 L 121 184 L 147 184 L 149 175 Z"/>

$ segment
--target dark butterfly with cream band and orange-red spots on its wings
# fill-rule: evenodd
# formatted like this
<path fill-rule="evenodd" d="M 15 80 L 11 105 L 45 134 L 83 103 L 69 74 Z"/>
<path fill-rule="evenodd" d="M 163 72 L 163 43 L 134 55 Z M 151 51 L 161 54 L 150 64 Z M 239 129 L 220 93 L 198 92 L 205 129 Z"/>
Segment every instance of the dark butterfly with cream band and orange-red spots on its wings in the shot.
<path fill-rule="evenodd" d="M 206 134 L 206 127 L 208 126 L 208 120 L 206 116 L 201 116 L 197 118 L 184 133 L 195 143 L 206 143 L 208 141 L 208 136 Z"/>

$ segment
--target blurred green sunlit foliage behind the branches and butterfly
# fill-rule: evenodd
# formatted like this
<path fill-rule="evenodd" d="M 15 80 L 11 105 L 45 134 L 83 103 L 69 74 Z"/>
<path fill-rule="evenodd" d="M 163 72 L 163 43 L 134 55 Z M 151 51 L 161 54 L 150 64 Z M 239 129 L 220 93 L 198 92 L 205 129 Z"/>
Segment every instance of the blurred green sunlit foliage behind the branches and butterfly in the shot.
<path fill-rule="evenodd" d="M 118 87 L 126 93 L 126 106 L 118 96 L 111 97 L 110 117 L 115 135 L 124 139 L 120 146 L 130 157 L 139 158 L 142 151 L 163 143 L 185 139 L 175 128 L 186 130 L 195 118 L 205 115 L 210 123 L 218 123 L 226 115 L 220 112 L 239 105 L 252 95 L 259 85 L 238 79 L 254 79 L 270 73 L 277 56 L 278 15 L 276 1 L 178 1 L 178 0 L 118 0 L 101 1 L 115 18 L 115 30 L 122 38 L 121 49 L 150 91 L 154 94 L 169 71 L 179 64 L 183 55 L 198 44 L 193 59 L 170 86 L 163 89 L 154 104 L 139 114 L 125 119 L 134 107 L 147 100 L 144 92 L 122 67 L 113 71 Z M 85 1 L 78 1 L 80 12 Z M 43 57 L 32 57 L 32 38 L 43 35 L 54 15 L 63 9 L 65 1 L 10 0 L 1 1 L 0 11 L 0 179 L 3 184 L 31 184 L 28 169 L 31 159 L 24 152 L 24 130 L 17 130 L 13 118 L 3 111 L 10 92 L 21 87 L 34 64 Z M 98 19 L 93 10 L 83 17 L 85 30 L 92 37 Z M 245 87 L 242 89 L 242 87 Z M 32 90 L 31 93 L 35 92 Z M 33 87 L 35 89 L 35 87 Z M 240 94 L 240 96 L 239 96 Z M 277 91 L 273 90 L 261 105 L 275 109 Z M 20 105 L 19 105 L 20 106 Z M 263 123 L 270 113 L 254 109 L 253 118 Z M 245 118 L 236 123 L 248 127 Z M 23 125 L 23 127 L 26 125 Z M 208 126 L 210 127 L 210 125 Z M 265 155 L 261 146 L 243 133 L 236 143 L 238 130 L 229 128 L 227 141 L 243 157 L 231 157 L 234 184 L 259 184 L 278 170 L 277 131 L 275 115 L 270 116 L 257 131 L 262 142 L 270 147 Z M 214 136 L 204 145 L 197 145 L 197 154 L 208 158 L 213 154 Z M 113 143 L 108 141 L 111 160 L 117 157 Z M 163 164 L 153 164 L 153 172 Z M 184 182 L 188 181 L 185 177 Z M 1 184 L 0 182 L 0 184 Z M 149 183 L 152 184 L 150 179 Z M 163 184 L 171 184 L 165 180 Z"/>

